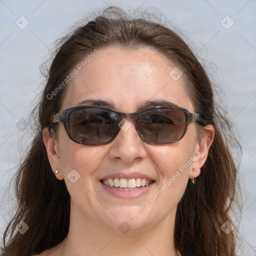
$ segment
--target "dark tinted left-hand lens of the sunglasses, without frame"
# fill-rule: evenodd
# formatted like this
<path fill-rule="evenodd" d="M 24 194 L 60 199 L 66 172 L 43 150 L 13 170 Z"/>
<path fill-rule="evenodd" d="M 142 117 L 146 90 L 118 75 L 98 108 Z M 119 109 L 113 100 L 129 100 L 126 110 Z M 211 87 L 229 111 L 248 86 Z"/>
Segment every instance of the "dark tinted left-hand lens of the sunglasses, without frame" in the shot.
<path fill-rule="evenodd" d="M 118 132 L 118 120 L 118 115 L 108 109 L 80 108 L 69 115 L 69 133 L 81 144 L 104 144 Z"/>

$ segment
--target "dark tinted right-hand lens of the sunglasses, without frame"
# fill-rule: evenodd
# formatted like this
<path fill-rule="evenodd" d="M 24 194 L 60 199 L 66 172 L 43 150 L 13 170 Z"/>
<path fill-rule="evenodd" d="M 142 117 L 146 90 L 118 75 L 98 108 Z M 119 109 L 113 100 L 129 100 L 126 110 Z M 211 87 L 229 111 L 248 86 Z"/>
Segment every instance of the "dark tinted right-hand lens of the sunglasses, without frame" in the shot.
<path fill-rule="evenodd" d="M 156 108 L 138 115 L 138 129 L 144 139 L 152 143 L 179 140 L 185 131 L 186 115 L 181 109 Z"/>

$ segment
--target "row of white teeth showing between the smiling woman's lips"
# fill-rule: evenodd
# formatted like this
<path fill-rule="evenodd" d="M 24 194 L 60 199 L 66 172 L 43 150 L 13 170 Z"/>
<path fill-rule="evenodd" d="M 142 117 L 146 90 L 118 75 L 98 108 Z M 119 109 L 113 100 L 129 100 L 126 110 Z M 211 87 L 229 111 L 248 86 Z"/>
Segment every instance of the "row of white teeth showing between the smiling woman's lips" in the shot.
<path fill-rule="evenodd" d="M 154 183 L 154 180 L 146 178 L 106 178 L 101 179 L 100 182 L 106 186 L 113 187 L 123 191 L 133 191 L 149 186 Z"/>

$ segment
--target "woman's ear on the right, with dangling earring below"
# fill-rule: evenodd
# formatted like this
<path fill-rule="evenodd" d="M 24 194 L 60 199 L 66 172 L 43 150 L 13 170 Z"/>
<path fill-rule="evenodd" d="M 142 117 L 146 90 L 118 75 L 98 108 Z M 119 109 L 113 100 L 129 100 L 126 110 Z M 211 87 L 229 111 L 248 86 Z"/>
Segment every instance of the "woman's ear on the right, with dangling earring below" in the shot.
<path fill-rule="evenodd" d="M 209 148 L 213 142 L 214 138 L 214 128 L 211 124 L 204 127 L 205 135 L 200 141 L 197 141 L 194 152 L 194 160 L 192 163 L 192 168 L 189 171 L 189 178 L 196 178 L 200 174 L 200 168 L 205 163 Z"/>

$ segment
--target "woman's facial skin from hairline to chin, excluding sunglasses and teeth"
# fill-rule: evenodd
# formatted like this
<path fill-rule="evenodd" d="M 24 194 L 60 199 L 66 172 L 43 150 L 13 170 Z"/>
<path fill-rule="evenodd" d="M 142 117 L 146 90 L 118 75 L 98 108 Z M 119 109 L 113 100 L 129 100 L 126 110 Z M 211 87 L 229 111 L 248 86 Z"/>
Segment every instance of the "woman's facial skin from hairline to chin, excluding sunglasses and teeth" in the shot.
<path fill-rule="evenodd" d="M 108 101 L 111 105 L 106 106 L 121 112 L 135 112 L 147 101 L 160 100 L 194 112 L 183 77 L 176 79 L 172 73 L 174 67 L 149 48 L 99 49 L 81 70 L 77 69 L 60 112 L 94 104 L 84 103 L 87 99 Z M 57 178 L 65 180 L 71 197 L 71 217 L 78 218 L 81 225 L 86 220 L 95 228 L 107 227 L 116 232 L 126 227 L 135 232 L 169 221 L 175 215 L 188 178 L 199 174 L 191 172 L 196 165 L 196 160 L 191 164 L 191 157 L 199 149 L 193 122 L 188 124 L 181 140 L 170 144 L 146 143 L 137 134 L 132 120 L 126 124 L 127 130 L 121 129 L 108 144 L 82 145 L 73 142 L 63 124 L 58 123 L 53 168 L 59 170 Z M 121 191 L 104 185 L 102 179 L 107 178 L 145 178 L 153 182 L 134 191 Z"/>

